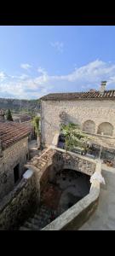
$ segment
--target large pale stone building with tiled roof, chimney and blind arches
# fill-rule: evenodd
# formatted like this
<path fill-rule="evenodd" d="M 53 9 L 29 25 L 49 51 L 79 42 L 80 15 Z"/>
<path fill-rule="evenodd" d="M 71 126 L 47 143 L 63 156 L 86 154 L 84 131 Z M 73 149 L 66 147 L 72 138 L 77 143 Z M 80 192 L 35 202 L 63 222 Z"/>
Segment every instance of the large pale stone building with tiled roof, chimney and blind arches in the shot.
<path fill-rule="evenodd" d="M 115 145 L 115 90 L 101 89 L 87 92 L 54 93 L 41 98 L 42 143 L 52 143 L 60 123 L 79 124 L 83 131 L 93 135 L 93 142 L 103 147 Z"/>

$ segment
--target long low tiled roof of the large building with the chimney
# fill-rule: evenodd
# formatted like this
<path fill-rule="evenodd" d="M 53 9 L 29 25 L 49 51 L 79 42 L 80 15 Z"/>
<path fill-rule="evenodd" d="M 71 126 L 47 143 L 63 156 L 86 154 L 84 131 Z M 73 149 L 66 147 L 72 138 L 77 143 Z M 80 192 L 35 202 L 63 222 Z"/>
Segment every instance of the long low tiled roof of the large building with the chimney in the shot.
<path fill-rule="evenodd" d="M 89 90 L 87 92 L 70 92 L 70 93 L 50 93 L 41 97 L 42 101 L 70 101 L 70 100 L 104 100 L 115 99 L 115 90 L 105 90 L 101 93 L 98 90 Z"/>

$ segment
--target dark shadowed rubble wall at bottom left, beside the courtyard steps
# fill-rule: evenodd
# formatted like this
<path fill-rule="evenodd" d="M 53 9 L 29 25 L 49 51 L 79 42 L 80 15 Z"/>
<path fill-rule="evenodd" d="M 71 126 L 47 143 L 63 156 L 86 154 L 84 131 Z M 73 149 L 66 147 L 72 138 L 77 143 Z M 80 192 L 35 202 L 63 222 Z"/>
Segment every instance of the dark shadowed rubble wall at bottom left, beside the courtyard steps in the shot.
<path fill-rule="evenodd" d="M 17 230 L 31 212 L 36 210 L 39 201 L 35 173 L 22 178 L 20 183 L 4 196 L 0 202 L 0 230 Z"/>

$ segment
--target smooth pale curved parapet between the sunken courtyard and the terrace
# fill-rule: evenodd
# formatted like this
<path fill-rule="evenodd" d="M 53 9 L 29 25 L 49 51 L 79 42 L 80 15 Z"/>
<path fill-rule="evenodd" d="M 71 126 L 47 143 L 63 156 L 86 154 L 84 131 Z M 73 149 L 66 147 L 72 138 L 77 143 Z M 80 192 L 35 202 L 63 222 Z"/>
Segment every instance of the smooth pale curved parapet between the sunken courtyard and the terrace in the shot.
<path fill-rule="evenodd" d="M 101 162 L 96 165 L 95 172 L 101 173 Z M 62 213 L 42 230 L 78 230 L 95 212 L 100 195 L 100 182 L 92 182 L 89 195 L 78 201 L 74 206 Z"/>

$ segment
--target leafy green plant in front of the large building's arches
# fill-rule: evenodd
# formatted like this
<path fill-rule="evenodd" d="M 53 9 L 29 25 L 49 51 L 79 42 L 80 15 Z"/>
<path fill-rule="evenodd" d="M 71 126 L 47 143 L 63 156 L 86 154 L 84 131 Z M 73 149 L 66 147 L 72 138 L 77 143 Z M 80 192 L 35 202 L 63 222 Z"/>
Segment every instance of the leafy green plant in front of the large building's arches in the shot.
<path fill-rule="evenodd" d="M 89 137 L 83 133 L 79 125 L 69 123 L 68 125 L 61 125 L 61 132 L 65 136 L 65 148 L 72 151 L 73 148 L 78 147 L 86 154 L 89 148 Z"/>

